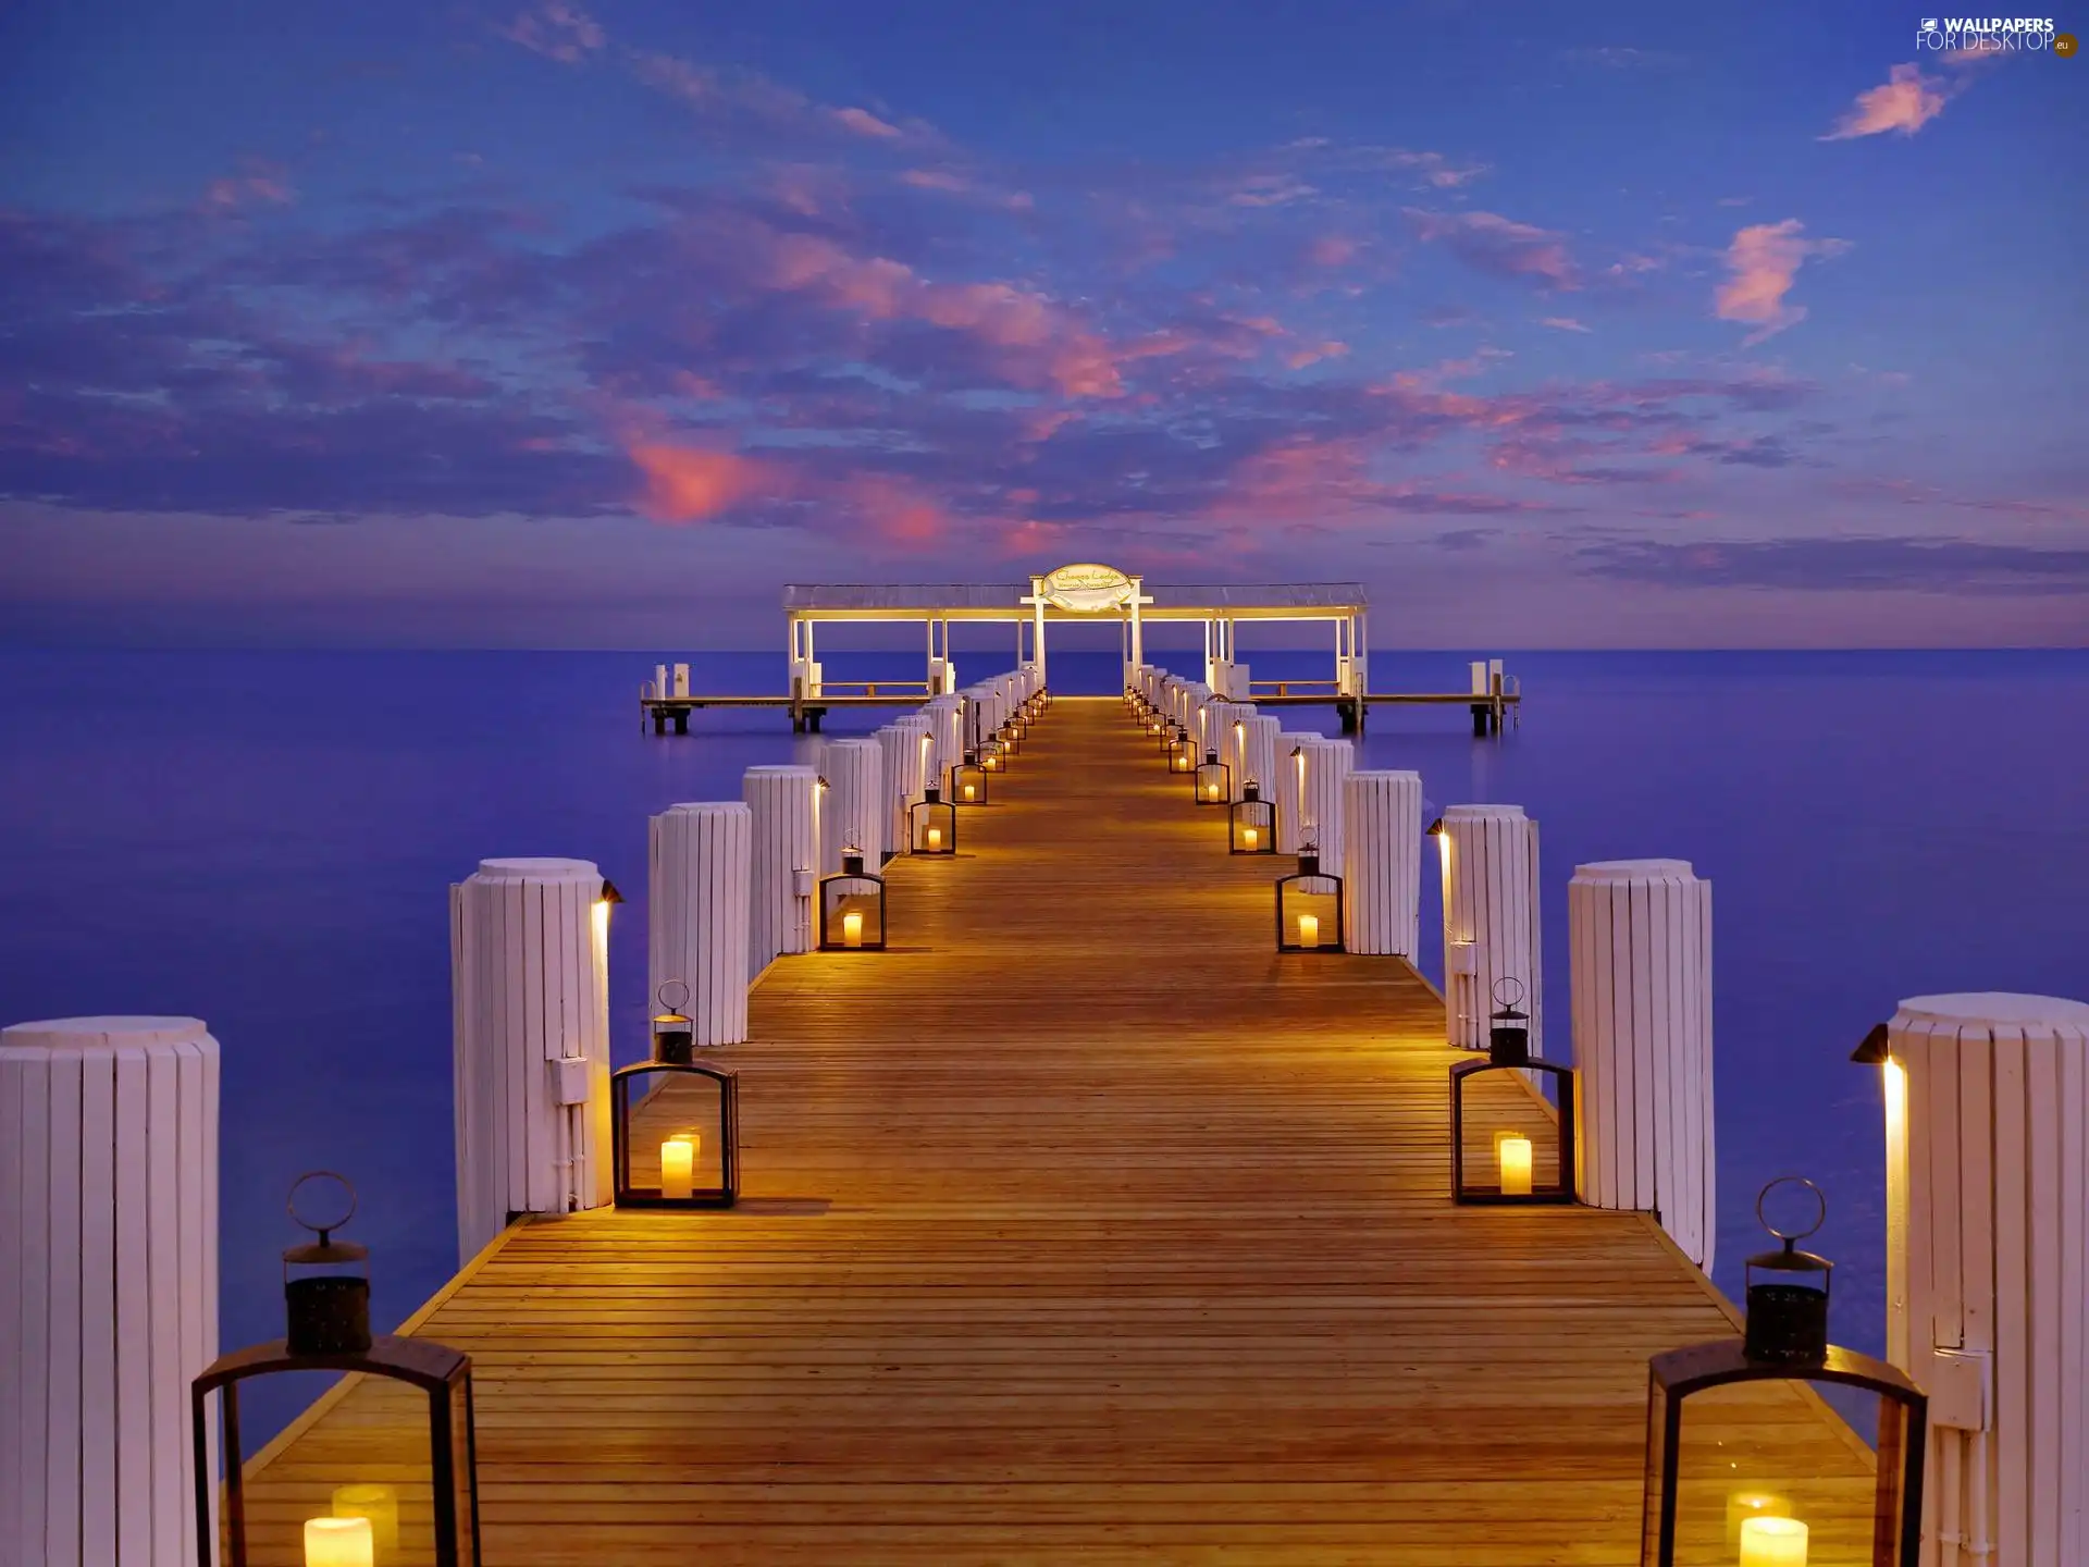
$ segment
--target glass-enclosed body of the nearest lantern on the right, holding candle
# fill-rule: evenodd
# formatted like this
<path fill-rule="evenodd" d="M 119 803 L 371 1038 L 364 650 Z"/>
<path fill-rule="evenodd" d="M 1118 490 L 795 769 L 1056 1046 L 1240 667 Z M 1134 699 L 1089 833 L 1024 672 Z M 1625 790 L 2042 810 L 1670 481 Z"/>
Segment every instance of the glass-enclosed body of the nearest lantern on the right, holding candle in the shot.
<path fill-rule="evenodd" d="M 1907 1402 L 1792 1369 L 1713 1383 L 1671 1406 L 1657 1398 L 1650 1419 L 1648 1452 L 1669 1471 L 1673 1534 L 1663 1552 L 1663 1477 L 1650 1473 L 1646 1563 L 1901 1567 L 1901 1460 L 1916 1435 Z"/>

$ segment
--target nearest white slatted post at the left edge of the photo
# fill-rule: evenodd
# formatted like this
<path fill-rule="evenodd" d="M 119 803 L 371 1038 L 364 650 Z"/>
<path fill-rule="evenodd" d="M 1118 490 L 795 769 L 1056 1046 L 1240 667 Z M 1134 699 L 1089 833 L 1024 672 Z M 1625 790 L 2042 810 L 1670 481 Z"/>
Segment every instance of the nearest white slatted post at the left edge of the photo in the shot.
<path fill-rule="evenodd" d="M 0 1561 L 194 1567 L 188 1383 L 215 1358 L 217 1040 L 0 1030 Z"/>

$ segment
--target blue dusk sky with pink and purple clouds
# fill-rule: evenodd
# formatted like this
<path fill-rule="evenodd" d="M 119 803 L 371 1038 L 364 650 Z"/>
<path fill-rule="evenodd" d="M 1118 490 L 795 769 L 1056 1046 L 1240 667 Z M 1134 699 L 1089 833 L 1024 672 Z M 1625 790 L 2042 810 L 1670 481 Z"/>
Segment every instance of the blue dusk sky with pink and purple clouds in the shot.
<path fill-rule="evenodd" d="M 0 641 L 2085 646 L 2089 63 L 1924 21 L 15 0 Z"/>

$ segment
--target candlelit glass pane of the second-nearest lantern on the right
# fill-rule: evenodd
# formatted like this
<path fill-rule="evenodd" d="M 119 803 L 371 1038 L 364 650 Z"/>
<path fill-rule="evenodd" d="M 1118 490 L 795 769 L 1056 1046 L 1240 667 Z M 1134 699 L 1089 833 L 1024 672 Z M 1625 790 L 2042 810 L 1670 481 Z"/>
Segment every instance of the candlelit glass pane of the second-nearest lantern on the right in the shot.
<path fill-rule="evenodd" d="M 1544 1103 L 1531 1086 L 1550 1091 Z M 1460 1203 L 1575 1201 L 1573 1091 L 1573 1070 L 1552 1061 L 1454 1066 L 1452 1197 Z"/>

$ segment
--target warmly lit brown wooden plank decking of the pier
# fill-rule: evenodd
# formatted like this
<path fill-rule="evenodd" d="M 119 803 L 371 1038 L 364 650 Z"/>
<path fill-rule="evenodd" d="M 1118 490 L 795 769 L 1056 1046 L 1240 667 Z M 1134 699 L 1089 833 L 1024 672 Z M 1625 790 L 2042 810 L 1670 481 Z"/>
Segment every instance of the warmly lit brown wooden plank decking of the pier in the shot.
<path fill-rule="evenodd" d="M 1734 1331 L 1659 1229 L 1454 1208 L 1441 1003 L 1270 951 L 1287 863 L 1118 702 L 1057 702 L 959 846 L 890 867 L 896 951 L 762 978 L 740 1210 L 520 1224 L 424 1314 L 487 1565 L 1636 1563 L 1646 1356 Z M 407 1417 L 357 1387 L 263 1454 L 261 1561 L 407 1479 Z M 1723 1419 L 1855 1561 L 1851 1431 Z"/>

